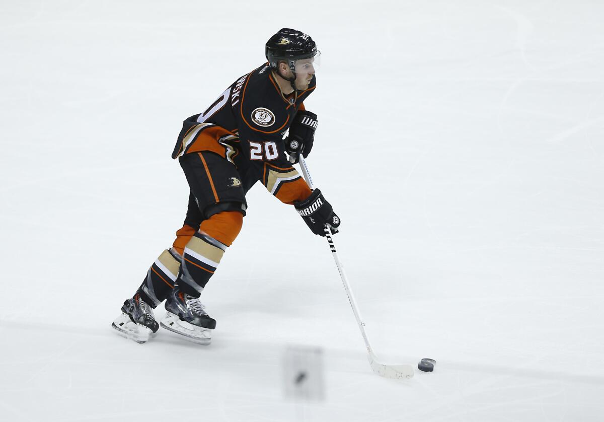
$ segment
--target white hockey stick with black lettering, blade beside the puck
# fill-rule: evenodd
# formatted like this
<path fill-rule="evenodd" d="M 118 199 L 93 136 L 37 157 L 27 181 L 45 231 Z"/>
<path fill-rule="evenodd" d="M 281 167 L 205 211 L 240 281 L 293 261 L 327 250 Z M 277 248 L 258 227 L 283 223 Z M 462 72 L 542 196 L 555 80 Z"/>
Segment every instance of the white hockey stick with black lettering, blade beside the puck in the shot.
<path fill-rule="evenodd" d="M 304 157 L 300 156 L 300 168 L 302 169 L 302 174 L 304 175 L 304 180 L 310 187 L 310 189 L 314 188 L 312 183 L 312 177 L 310 177 L 310 172 L 308 170 L 308 166 L 306 166 L 306 161 L 304 161 Z M 365 322 L 361 318 L 361 314 L 359 313 L 359 308 L 356 305 L 355 295 L 352 293 L 352 289 L 350 288 L 350 284 L 348 279 L 346 278 L 346 274 L 344 273 L 344 265 L 339 260 L 338 253 L 336 252 L 335 244 L 333 243 L 333 239 L 327 224 L 323 227 L 325 230 L 325 237 L 327 239 L 327 243 L 329 244 L 329 248 L 332 251 L 333 259 L 336 262 L 336 266 L 338 267 L 338 271 L 340 274 L 340 278 L 342 279 L 342 283 L 344 284 L 344 290 L 348 295 L 348 300 L 350 302 L 350 306 L 352 307 L 352 312 L 355 314 L 356 322 L 359 325 L 359 329 L 361 330 L 361 334 L 363 336 L 363 340 L 365 340 L 365 346 L 367 347 L 367 352 L 369 353 L 369 363 L 371 365 L 371 369 L 377 375 L 381 375 L 386 378 L 411 378 L 414 374 L 413 366 L 411 365 L 385 365 L 384 363 L 380 363 L 377 360 L 376 355 L 373 353 L 373 349 L 371 349 L 371 345 L 369 344 L 369 339 L 367 338 L 367 334 L 365 333 Z"/>

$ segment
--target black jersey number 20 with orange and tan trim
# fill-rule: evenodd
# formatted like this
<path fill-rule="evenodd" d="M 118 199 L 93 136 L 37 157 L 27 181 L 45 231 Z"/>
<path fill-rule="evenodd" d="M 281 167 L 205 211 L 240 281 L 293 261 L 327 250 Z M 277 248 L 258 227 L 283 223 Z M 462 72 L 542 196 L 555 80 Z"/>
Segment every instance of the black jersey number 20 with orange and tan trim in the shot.
<path fill-rule="evenodd" d="M 212 151 L 233 163 L 247 192 L 261 180 L 284 203 L 300 201 L 310 189 L 289 163 L 283 136 L 316 86 L 281 93 L 268 63 L 237 79 L 206 111 L 187 118 L 172 158 Z"/>

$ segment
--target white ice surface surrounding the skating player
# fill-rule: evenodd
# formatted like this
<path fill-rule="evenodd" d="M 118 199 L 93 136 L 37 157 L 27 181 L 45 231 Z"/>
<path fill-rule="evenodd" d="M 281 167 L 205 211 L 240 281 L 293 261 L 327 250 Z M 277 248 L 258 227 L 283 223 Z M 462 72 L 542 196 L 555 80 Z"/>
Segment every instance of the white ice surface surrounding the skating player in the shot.
<path fill-rule="evenodd" d="M 596 0 L 2 1 L 0 420 L 601 421 L 603 20 Z M 111 329 L 184 219 L 182 120 L 283 27 L 322 53 L 307 163 L 373 348 L 434 372 L 371 372 L 325 240 L 260 184 L 201 297 L 210 346 Z M 292 347 L 321 350 L 323 400 L 285 396 Z"/>

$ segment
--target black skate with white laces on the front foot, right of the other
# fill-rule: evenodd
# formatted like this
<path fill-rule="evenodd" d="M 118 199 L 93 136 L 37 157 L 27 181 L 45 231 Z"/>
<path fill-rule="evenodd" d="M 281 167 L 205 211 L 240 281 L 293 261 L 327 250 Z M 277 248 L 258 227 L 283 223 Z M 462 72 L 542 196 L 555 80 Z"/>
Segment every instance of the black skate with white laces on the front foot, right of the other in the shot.
<path fill-rule="evenodd" d="M 165 301 L 165 310 L 166 317 L 160 322 L 162 327 L 187 337 L 193 343 L 211 343 L 216 320 L 208 316 L 198 298 L 182 293 L 176 286 Z"/>

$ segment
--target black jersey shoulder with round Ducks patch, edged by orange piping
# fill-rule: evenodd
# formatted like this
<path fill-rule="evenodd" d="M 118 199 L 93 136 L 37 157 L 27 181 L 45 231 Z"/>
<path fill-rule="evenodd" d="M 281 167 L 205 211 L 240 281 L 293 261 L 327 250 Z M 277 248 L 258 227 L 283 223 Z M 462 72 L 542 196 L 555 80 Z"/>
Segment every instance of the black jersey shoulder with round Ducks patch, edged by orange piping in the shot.
<path fill-rule="evenodd" d="M 289 121 L 288 106 L 268 63 L 249 74 L 240 108 L 241 118 L 249 128 L 263 133 L 280 131 Z"/>

